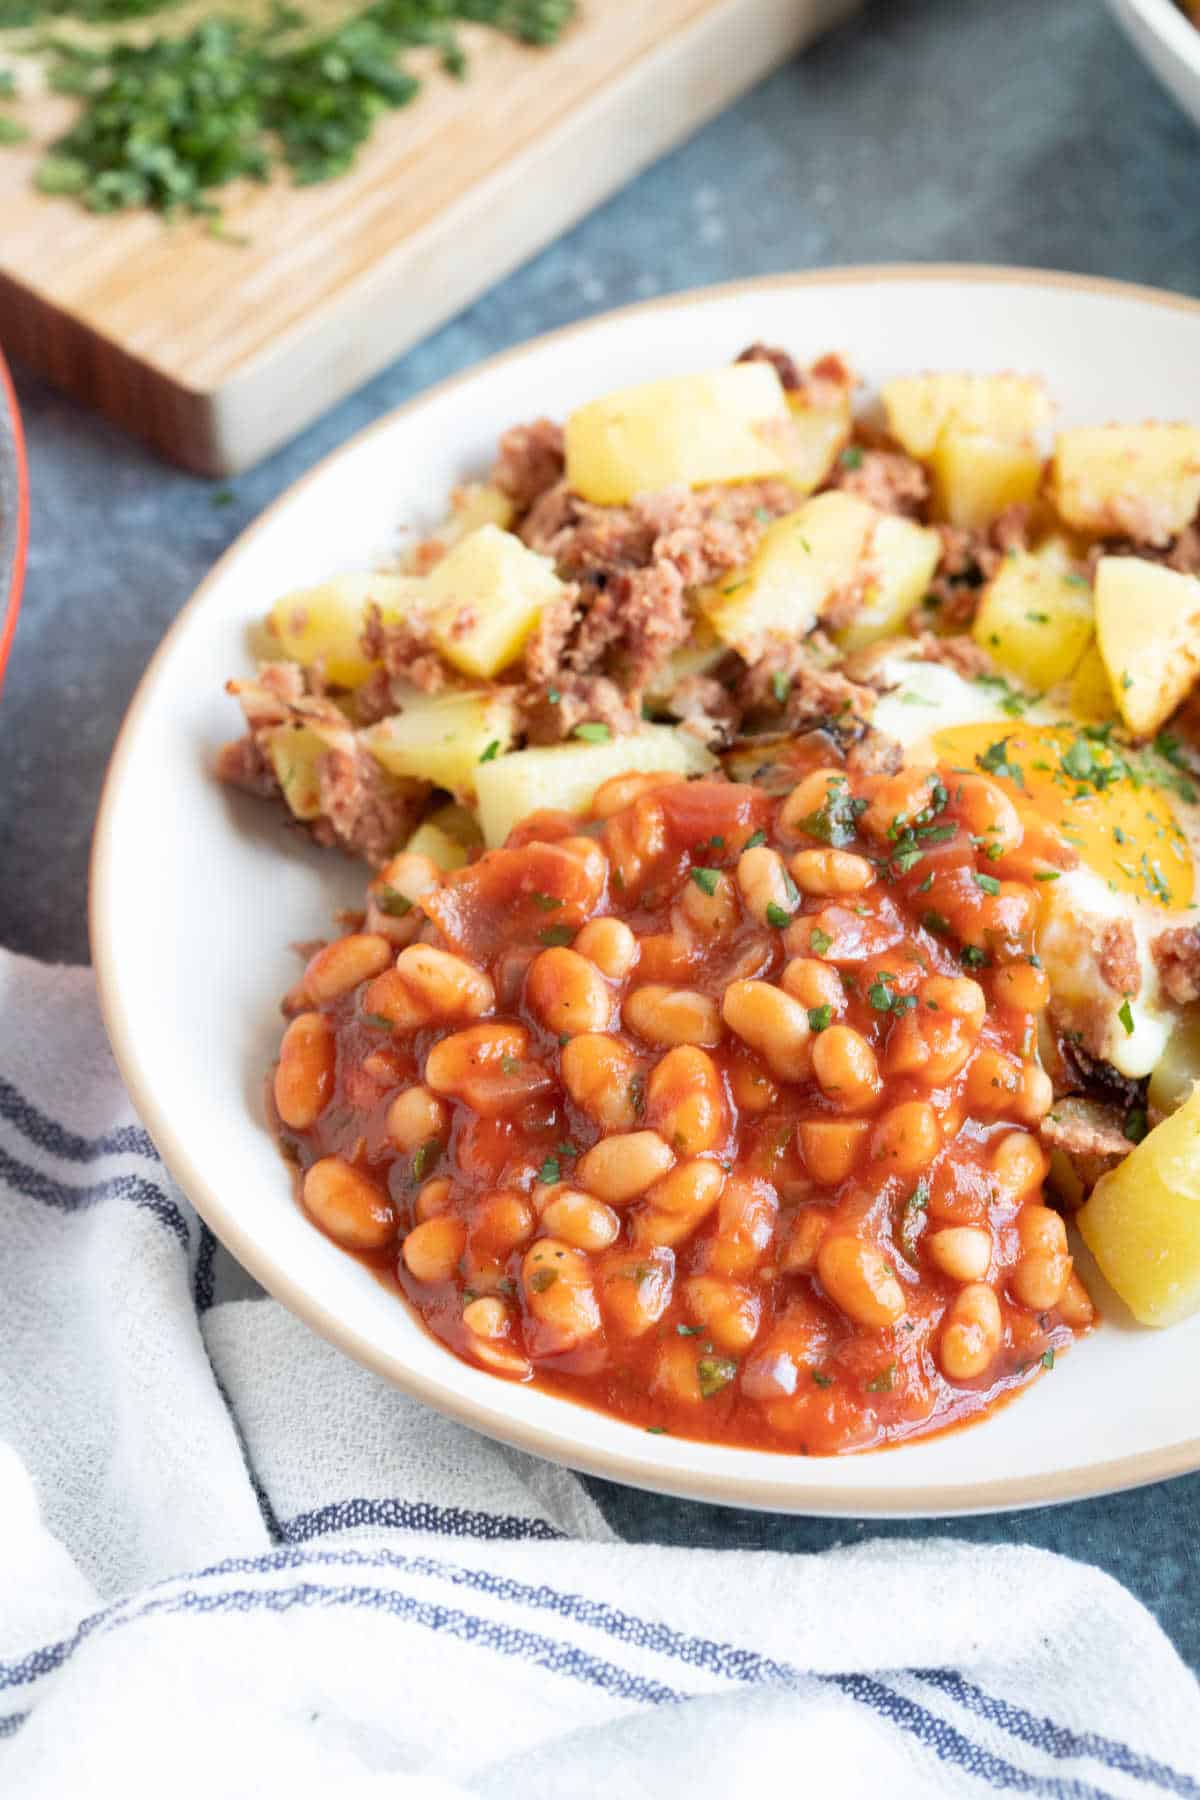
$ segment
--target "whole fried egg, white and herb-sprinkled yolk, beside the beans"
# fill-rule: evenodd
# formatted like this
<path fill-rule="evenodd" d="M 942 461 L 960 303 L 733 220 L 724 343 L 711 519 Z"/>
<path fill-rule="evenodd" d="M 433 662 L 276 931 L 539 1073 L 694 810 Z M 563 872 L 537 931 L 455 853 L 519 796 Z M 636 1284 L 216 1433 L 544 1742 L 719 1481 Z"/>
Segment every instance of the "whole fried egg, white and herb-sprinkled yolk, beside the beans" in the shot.
<path fill-rule="evenodd" d="M 882 675 L 894 686 L 874 724 L 907 763 L 984 769 L 1074 848 L 1078 866 L 1042 895 L 1038 952 L 1058 1021 L 1121 1075 L 1150 1075 L 1178 1021 L 1150 947 L 1198 918 L 1196 787 L 1162 756 L 1108 742 L 1000 679 L 966 680 L 903 652 Z"/>

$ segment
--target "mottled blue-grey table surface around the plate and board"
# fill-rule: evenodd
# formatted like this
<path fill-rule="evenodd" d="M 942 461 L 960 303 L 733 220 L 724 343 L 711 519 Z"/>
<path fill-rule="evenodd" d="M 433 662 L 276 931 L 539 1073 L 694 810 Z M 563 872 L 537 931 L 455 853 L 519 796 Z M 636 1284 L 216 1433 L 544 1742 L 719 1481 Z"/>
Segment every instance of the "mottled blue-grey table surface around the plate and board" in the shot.
<path fill-rule="evenodd" d="M 576 230 L 232 484 L 166 468 L 18 371 L 32 544 L 0 733 L 0 943 L 86 961 L 92 819 L 121 715 L 212 560 L 430 382 L 709 281 L 871 261 L 1085 270 L 1200 293 L 1200 133 L 1099 0 L 874 0 Z M 1200 373 L 1180 371 L 1182 383 Z M 228 1265 L 227 1292 L 246 1291 Z M 1180 1364 L 1180 1381 L 1196 1373 Z M 815 1552 L 950 1532 L 1101 1564 L 1200 1669 L 1200 1476 L 948 1525 L 786 1519 L 590 1487 L 630 1539 Z"/>

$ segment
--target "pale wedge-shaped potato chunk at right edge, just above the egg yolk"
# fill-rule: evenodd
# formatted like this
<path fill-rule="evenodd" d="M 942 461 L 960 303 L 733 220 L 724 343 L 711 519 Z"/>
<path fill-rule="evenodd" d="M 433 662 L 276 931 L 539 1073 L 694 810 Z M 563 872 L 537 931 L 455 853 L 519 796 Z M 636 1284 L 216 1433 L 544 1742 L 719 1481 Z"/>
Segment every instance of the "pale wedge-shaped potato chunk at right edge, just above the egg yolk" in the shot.
<path fill-rule="evenodd" d="M 1150 736 L 1200 677 L 1200 578 L 1139 556 L 1101 556 L 1096 643 L 1121 718 Z"/>

